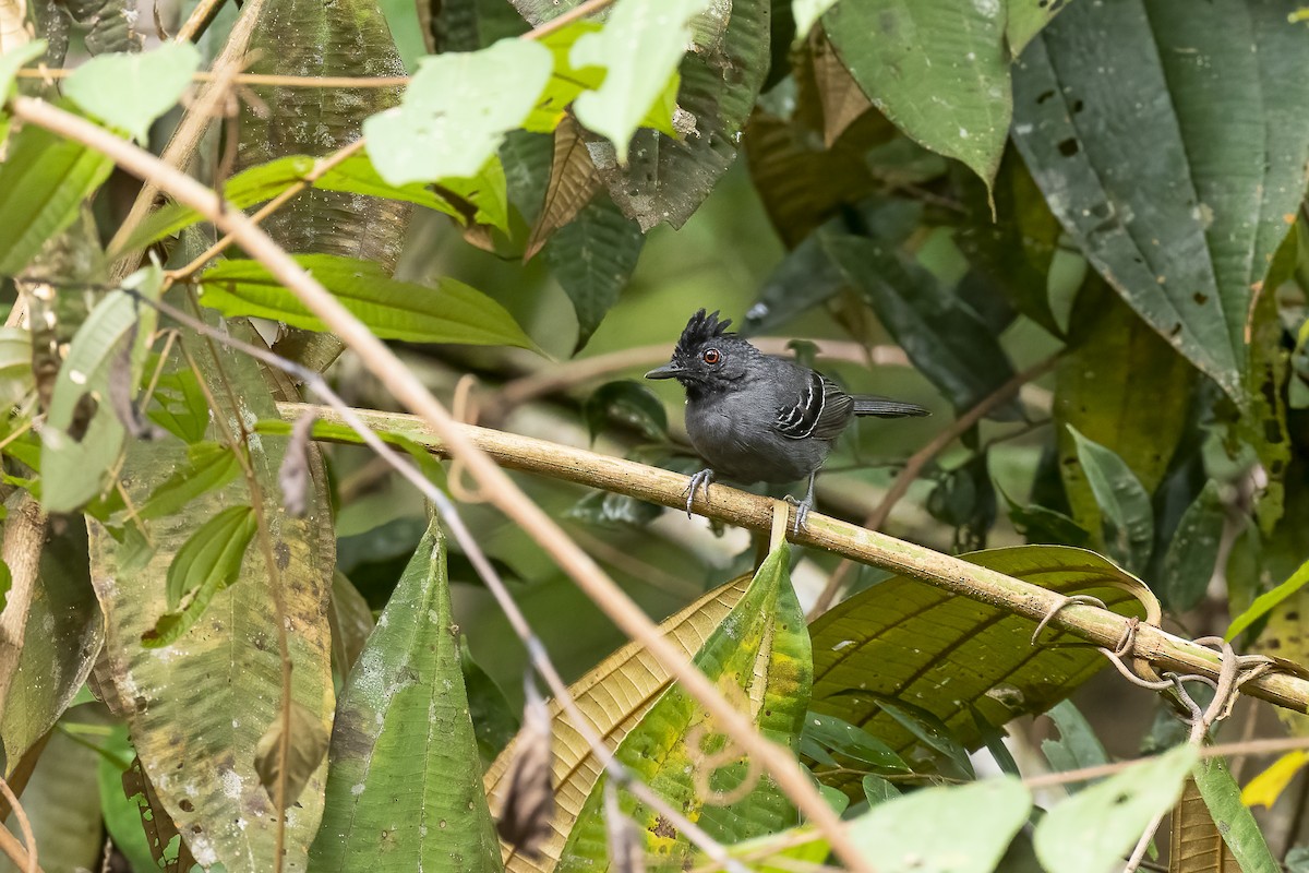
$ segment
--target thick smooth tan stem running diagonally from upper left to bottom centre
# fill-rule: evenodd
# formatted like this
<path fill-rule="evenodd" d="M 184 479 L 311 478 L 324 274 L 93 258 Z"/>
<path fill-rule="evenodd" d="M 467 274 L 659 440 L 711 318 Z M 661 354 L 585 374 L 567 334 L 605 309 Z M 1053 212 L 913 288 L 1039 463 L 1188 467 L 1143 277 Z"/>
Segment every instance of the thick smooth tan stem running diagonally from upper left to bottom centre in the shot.
<path fill-rule="evenodd" d="M 592 0 L 596 3 L 596 0 Z M 584 4 L 586 5 L 586 4 Z M 597 4 L 598 5 L 598 4 Z M 580 9 L 581 7 L 579 7 Z M 96 124 L 31 97 L 9 101 L 14 116 L 81 143 L 111 158 L 123 170 L 151 179 L 161 191 L 191 207 L 224 233 L 229 233 L 251 258 L 293 293 L 314 315 L 351 348 L 364 366 L 407 408 L 439 435 L 450 452 L 463 461 L 490 500 L 517 522 L 554 561 L 567 572 L 592 601 L 630 639 L 644 645 L 682 687 L 717 720 L 741 749 L 754 757 L 776 780 L 804 815 L 830 840 L 833 851 L 852 870 L 872 873 L 872 865 L 851 839 L 840 818 L 810 781 L 791 749 L 755 730 L 754 722 L 723 696 L 715 683 L 669 643 L 631 598 L 573 543 L 550 516 L 534 504 L 518 486 L 470 438 L 444 406 L 410 372 L 395 353 L 350 310 L 295 262 L 243 213 L 224 208 L 217 194 L 149 152 L 120 140 Z M 1067 610 L 1066 613 L 1072 611 Z"/>

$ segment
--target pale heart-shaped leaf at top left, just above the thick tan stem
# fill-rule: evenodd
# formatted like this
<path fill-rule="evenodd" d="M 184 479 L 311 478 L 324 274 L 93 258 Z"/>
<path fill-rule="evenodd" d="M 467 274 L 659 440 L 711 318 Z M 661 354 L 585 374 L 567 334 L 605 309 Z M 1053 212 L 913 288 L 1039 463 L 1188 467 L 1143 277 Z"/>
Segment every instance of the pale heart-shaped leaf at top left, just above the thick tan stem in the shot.
<path fill-rule="evenodd" d="M 64 94 L 110 127 L 145 141 L 151 124 L 177 105 L 200 68 L 190 42 L 166 42 L 152 51 L 92 58 L 64 82 Z"/>

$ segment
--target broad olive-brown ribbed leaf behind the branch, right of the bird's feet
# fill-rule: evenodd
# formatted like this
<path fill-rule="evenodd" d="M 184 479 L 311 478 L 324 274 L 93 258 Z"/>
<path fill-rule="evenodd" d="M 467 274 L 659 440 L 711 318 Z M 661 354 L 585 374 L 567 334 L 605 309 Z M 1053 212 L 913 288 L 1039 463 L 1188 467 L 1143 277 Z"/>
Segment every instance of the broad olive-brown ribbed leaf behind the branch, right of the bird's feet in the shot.
<path fill-rule="evenodd" d="M 1016 546 L 963 556 L 979 567 L 1062 594 L 1093 594 L 1111 610 L 1141 615 L 1143 582 L 1081 548 Z M 1045 712 L 1105 666 L 1094 649 L 1062 647 L 1047 631 L 1033 650 L 1035 624 L 997 606 L 895 576 L 839 603 L 809 628 L 814 650 L 810 708 L 863 726 L 910 766 L 933 770 L 937 751 L 888 711 L 928 711 L 969 749 L 982 745 L 978 721 L 1004 725 Z M 919 763 L 924 762 L 924 763 Z M 831 780 L 852 797 L 857 779 Z"/>

